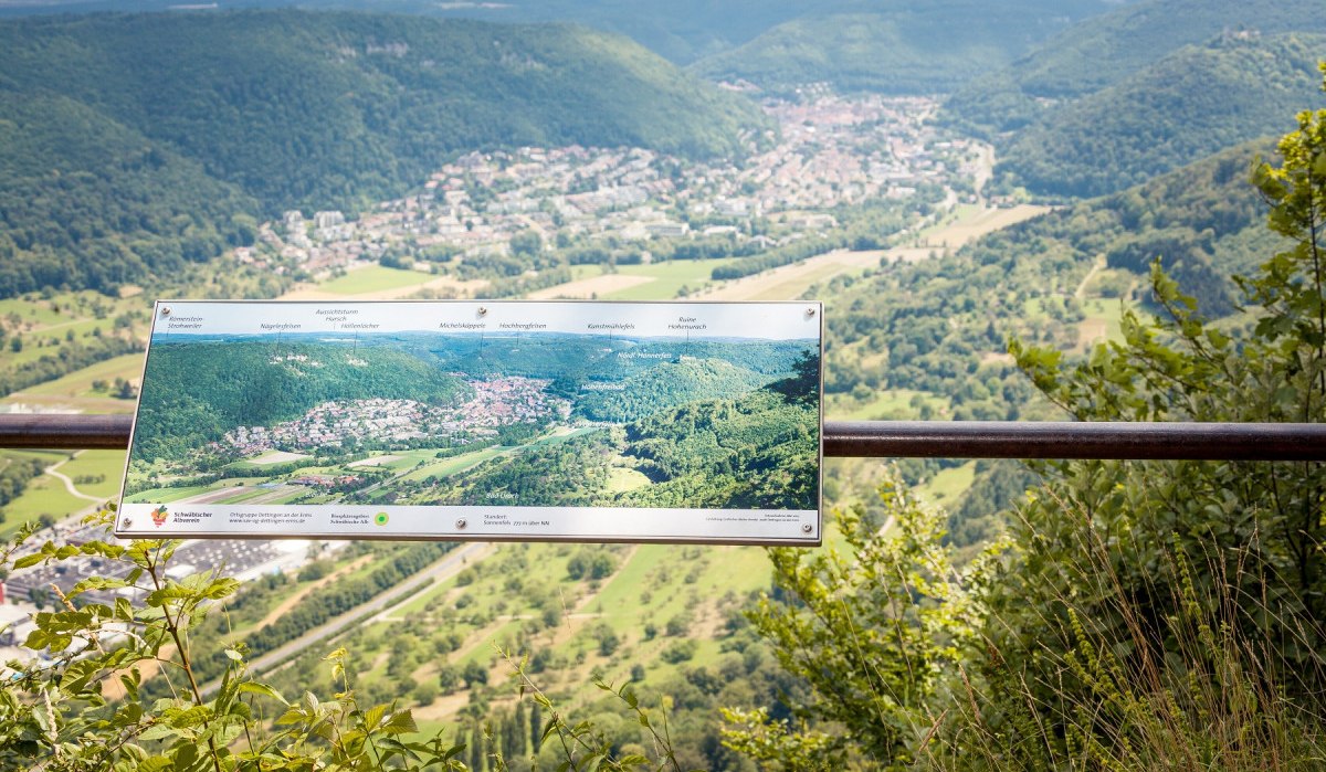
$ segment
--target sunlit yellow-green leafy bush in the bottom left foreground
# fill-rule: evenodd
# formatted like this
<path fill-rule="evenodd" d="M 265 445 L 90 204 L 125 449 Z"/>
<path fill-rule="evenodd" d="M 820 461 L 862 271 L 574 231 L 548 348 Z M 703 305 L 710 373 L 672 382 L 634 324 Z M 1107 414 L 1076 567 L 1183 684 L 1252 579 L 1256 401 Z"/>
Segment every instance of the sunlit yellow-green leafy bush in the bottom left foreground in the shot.
<path fill-rule="evenodd" d="M 89 520 L 109 528 L 110 511 Z M 40 564 L 95 557 L 119 564 L 125 578 L 93 576 L 60 596 L 54 610 L 34 615 L 36 630 L 24 647 L 49 659 L 12 671 L 0 683 L 0 768 L 50 772 L 130 769 L 464 769 L 460 751 L 443 741 L 406 741 L 418 732 L 410 711 L 378 704 L 361 707 L 346 679 L 345 651 L 326 659 L 342 690 L 322 700 L 304 694 L 289 700 L 255 680 L 247 649 L 225 650 L 227 669 L 211 696 L 195 676 L 196 647 L 190 633 L 239 582 L 213 572 L 175 581 L 167 574 L 178 541 L 143 540 L 127 545 L 88 541 L 29 545 L 25 527 L 0 547 L 8 573 Z M 89 593 L 146 590 L 141 606 L 125 597 L 113 605 Z M 33 659 L 33 663 L 37 661 Z M 176 688 L 163 699 L 141 692 L 141 669 L 151 666 Z M 122 696 L 111 699 L 115 686 Z M 267 718 L 276 716 L 268 726 Z"/>

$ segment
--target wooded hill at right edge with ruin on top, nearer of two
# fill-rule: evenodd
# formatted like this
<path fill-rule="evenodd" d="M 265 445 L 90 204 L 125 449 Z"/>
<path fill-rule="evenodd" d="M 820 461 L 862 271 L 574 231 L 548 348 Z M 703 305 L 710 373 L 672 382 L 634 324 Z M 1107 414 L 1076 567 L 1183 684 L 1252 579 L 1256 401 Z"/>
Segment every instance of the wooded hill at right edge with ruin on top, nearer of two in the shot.
<path fill-rule="evenodd" d="M 1220 149 L 1294 127 L 1321 103 L 1326 36 L 1225 36 L 1185 46 L 1046 114 L 1009 143 L 998 171 L 1050 195 L 1093 196 Z"/>

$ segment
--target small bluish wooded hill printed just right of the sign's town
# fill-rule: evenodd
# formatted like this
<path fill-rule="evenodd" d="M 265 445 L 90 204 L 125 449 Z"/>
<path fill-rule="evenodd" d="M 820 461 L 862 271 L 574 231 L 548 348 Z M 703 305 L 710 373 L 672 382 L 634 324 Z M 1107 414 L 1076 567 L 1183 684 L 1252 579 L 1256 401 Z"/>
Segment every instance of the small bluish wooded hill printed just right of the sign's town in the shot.
<path fill-rule="evenodd" d="M 582 386 L 575 409 L 590 420 L 626 423 L 693 399 L 728 399 L 752 391 L 768 378 L 723 359 L 663 362 L 631 375 L 613 389 Z"/>

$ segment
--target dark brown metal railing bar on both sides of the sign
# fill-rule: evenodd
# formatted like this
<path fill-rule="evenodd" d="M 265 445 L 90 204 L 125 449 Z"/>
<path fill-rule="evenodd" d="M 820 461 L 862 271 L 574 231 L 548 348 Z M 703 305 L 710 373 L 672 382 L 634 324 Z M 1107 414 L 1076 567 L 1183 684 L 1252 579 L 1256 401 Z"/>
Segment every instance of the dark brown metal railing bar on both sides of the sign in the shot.
<path fill-rule="evenodd" d="M 0 448 L 129 447 L 129 415 L 0 415 Z M 833 458 L 1326 460 L 1323 423 L 827 420 Z"/>

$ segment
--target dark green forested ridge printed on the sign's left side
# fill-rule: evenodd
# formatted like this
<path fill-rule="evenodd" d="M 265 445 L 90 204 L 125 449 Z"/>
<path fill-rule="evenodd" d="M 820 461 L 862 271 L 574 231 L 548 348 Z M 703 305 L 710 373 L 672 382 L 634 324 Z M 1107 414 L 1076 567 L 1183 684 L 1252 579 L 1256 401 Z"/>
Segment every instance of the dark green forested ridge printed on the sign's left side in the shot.
<path fill-rule="evenodd" d="M 236 426 L 267 426 L 333 399 L 450 403 L 453 375 L 386 346 L 272 342 L 152 344 L 134 458 L 183 459 Z"/>

